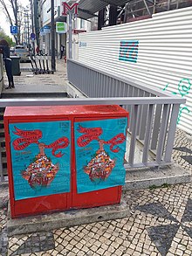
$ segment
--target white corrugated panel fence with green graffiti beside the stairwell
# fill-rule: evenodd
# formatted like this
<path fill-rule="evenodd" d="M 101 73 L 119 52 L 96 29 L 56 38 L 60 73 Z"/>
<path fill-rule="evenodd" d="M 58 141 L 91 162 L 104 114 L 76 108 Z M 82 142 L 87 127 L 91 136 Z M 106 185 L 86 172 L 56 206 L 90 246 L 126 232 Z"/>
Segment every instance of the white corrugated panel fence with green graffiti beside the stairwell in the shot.
<path fill-rule="evenodd" d="M 79 62 L 187 99 L 177 123 L 192 127 L 192 7 L 79 35 Z"/>

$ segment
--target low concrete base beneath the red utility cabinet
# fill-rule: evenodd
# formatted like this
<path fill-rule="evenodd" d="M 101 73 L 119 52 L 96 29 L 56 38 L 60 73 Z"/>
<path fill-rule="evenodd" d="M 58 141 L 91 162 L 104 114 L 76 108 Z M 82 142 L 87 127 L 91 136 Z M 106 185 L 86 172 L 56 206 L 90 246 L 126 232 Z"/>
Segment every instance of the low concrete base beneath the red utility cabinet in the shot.
<path fill-rule="evenodd" d="M 120 204 L 100 206 L 90 209 L 56 212 L 35 217 L 10 218 L 10 205 L 8 209 L 7 232 L 8 236 L 30 232 L 47 232 L 58 228 L 82 225 L 117 218 L 127 218 L 130 211 L 127 203 L 122 200 Z"/>

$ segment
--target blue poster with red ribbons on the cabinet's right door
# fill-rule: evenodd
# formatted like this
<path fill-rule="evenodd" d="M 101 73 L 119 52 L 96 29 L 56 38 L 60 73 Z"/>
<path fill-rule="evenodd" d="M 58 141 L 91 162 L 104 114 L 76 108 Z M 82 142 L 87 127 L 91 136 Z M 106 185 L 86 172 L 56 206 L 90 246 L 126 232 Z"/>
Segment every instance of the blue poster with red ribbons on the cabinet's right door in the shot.
<path fill-rule="evenodd" d="M 74 124 L 78 193 L 125 183 L 127 118 Z"/>

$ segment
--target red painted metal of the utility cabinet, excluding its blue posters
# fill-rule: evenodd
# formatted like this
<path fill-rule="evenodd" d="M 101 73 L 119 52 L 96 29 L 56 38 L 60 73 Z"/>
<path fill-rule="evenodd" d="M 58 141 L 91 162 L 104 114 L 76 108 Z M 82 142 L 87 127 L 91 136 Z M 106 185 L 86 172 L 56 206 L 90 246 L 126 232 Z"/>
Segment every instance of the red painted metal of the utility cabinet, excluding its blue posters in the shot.
<path fill-rule="evenodd" d="M 85 193 L 78 193 L 77 190 L 77 172 L 76 172 L 76 158 L 75 158 L 75 138 L 74 138 L 74 126 L 77 121 L 99 121 L 107 119 L 115 119 L 126 117 L 128 119 L 128 113 L 122 107 L 116 105 L 102 105 L 102 106 L 41 106 L 41 107 L 6 107 L 4 113 L 4 129 L 6 140 L 6 153 L 9 175 L 9 189 L 10 189 L 10 210 L 11 217 L 24 217 L 28 215 L 35 215 L 51 211 L 65 211 L 74 208 L 88 208 L 93 206 L 107 205 L 107 204 L 119 204 L 121 196 L 121 186 L 110 187 L 102 190 L 93 190 Z M 26 130 L 32 126 L 38 124 L 47 124 L 50 122 L 64 122 L 71 124 L 70 142 L 68 147 L 71 147 L 70 161 L 70 191 L 56 194 L 49 194 L 45 196 L 30 197 L 16 200 L 16 191 L 14 190 L 14 178 L 11 156 L 11 143 L 10 143 L 10 125 L 14 124 L 27 124 Z M 16 125 L 17 127 L 17 125 Z M 15 127 L 14 127 L 15 128 Z M 37 128 L 36 128 L 37 130 Z M 50 135 L 54 135 L 56 130 L 52 130 Z M 19 129 L 16 134 L 19 134 Z M 34 138 L 33 138 L 34 139 Z M 36 142 L 41 142 L 41 139 Z M 20 141 L 18 141 L 20 142 Z M 52 152 L 58 141 L 51 143 Z M 58 142 L 57 145 L 62 144 Z M 35 144 L 36 145 L 36 144 Z M 44 145 L 47 149 L 51 150 L 50 145 Z M 54 148 L 58 150 L 58 148 Z M 53 153 L 57 155 L 57 152 Z M 55 166 L 53 167 L 53 169 Z M 19 170 L 17 170 L 19 171 Z M 51 175 L 51 174 L 50 174 Z M 59 183 L 59 185 L 61 185 Z"/>

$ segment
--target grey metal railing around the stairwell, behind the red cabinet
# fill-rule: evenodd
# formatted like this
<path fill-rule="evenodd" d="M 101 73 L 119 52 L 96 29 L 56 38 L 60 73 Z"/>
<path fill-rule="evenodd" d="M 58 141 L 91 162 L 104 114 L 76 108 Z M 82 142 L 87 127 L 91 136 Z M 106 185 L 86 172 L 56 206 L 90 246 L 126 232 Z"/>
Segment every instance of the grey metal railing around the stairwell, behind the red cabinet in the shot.
<path fill-rule="evenodd" d="M 154 167 L 171 164 L 177 115 L 185 100 L 172 94 L 155 91 L 107 73 L 99 73 L 77 61 L 68 61 L 68 80 L 86 96 L 93 98 L 1 99 L 0 107 L 58 105 L 120 105 L 130 112 L 130 149 L 126 168 Z M 143 142 L 141 162 L 135 162 L 136 141 Z M 153 161 L 149 151 L 155 151 Z M 3 181 L 3 165 L 0 161 Z"/>

